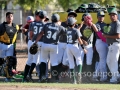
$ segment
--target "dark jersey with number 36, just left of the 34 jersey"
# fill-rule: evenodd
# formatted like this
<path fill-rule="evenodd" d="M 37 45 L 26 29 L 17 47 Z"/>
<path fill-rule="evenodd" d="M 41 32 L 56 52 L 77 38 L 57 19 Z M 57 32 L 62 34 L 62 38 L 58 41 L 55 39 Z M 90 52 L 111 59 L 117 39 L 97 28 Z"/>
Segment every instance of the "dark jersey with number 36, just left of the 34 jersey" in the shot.
<path fill-rule="evenodd" d="M 45 25 L 44 22 L 41 21 L 31 23 L 29 30 L 33 31 L 34 33 L 32 41 L 35 41 L 37 39 L 37 36 L 41 32 L 44 25 Z M 43 37 L 39 41 L 43 41 Z"/>

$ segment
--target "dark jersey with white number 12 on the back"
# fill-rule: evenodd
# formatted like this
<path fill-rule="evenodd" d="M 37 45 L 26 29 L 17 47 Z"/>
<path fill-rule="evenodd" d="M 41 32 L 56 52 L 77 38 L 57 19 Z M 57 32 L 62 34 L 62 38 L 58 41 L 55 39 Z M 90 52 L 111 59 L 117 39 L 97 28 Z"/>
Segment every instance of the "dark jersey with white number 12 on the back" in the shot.
<path fill-rule="evenodd" d="M 81 33 L 76 28 L 69 28 L 67 30 L 67 43 L 68 44 L 74 44 L 78 43 L 78 38 L 81 37 Z"/>

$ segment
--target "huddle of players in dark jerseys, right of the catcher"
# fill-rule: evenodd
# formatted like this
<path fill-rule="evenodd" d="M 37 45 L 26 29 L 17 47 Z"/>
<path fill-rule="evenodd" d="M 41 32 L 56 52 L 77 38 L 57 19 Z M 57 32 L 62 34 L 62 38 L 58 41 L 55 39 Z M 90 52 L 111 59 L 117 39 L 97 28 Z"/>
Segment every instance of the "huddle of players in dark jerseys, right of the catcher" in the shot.
<path fill-rule="evenodd" d="M 47 22 L 47 12 L 43 10 L 35 12 L 35 20 L 32 16 L 28 16 L 27 25 L 23 27 L 23 32 L 27 32 L 28 36 L 28 60 L 24 69 L 23 82 L 34 82 L 32 72 L 35 67 L 39 82 L 47 82 L 47 64 L 50 62 L 51 72 L 57 72 L 52 75 L 55 82 L 59 82 L 61 72 L 67 71 L 71 74 L 71 83 L 81 83 L 84 57 L 86 57 L 86 72 L 91 72 L 93 52 L 97 51 L 99 62 L 95 73 L 92 77 L 86 76 L 86 78 L 107 81 L 108 66 L 112 73 L 110 83 L 117 83 L 120 78 L 118 72 L 120 22 L 116 10 L 109 12 L 109 15 L 112 21 L 110 25 L 104 23 L 104 11 L 97 13 L 98 22 L 95 24 L 92 22 L 91 14 L 84 13 L 80 25 L 76 24 L 77 14 L 72 10 L 68 11 L 65 22 L 60 22 L 60 16 L 56 13 L 51 16 L 51 22 Z M 77 77 L 74 74 L 75 67 Z M 9 72 L 7 74 L 10 76 Z"/>

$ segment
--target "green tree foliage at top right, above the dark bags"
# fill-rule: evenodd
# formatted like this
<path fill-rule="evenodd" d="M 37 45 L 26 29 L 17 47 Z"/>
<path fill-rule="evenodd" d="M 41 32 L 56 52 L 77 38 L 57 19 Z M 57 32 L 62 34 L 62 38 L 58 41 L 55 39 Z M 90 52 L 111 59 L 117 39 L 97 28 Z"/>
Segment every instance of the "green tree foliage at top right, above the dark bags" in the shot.
<path fill-rule="evenodd" d="M 58 4 L 66 11 L 68 8 L 77 9 L 82 3 L 91 3 L 91 0 L 57 0 Z M 119 0 L 92 0 L 92 3 L 98 3 L 101 6 L 106 6 L 107 4 L 115 5 L 120 7 Z"/>

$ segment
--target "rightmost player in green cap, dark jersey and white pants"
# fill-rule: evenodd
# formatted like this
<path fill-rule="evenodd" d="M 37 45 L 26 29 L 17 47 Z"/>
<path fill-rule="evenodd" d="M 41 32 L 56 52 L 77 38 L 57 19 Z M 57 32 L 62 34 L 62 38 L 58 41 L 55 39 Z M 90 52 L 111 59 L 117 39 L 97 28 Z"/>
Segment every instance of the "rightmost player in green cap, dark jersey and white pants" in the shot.
<path fill-rule="evenodd" d="M 107 54 L 107 65 L 112 73 L 110 83 L 117 83 L 119 77 L 118 72 L 118 58 L 120 54 L 120 21 L 118 20 L 118 12 L 116 8 L 112 8 L 109 12 L 111 23 L 108 29 L 108 33 L 103 34 L 107 39 L 108 54 Z"/>

